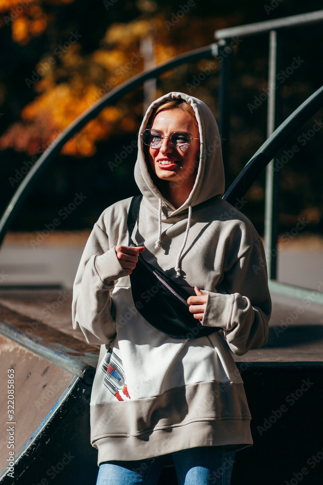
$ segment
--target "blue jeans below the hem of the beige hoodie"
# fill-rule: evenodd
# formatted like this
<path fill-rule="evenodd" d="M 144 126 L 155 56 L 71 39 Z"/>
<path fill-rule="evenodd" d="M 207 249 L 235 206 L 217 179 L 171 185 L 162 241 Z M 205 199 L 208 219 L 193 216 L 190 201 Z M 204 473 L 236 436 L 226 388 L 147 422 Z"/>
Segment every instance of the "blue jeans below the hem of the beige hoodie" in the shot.
<path fill-rule="evenodd" d="M 101 463 L 96 485 L 157 485 L 167 456 Z M 207 446 L 171 453 L 178 485 L 230 485 L 235 451 Z"/>

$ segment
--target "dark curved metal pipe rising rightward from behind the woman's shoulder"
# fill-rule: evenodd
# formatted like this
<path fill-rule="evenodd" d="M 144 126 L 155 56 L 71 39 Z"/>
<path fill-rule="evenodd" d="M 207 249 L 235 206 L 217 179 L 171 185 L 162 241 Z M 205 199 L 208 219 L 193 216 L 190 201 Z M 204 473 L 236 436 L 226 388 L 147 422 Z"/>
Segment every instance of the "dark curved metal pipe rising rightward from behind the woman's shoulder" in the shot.
<path fill-rule="evenodd" d="M 323 106 L 323 86 L 302 103 L 264 142 L 232 182 L 223 199 L 234 203 L 243 197 L 284 143 Z"/>

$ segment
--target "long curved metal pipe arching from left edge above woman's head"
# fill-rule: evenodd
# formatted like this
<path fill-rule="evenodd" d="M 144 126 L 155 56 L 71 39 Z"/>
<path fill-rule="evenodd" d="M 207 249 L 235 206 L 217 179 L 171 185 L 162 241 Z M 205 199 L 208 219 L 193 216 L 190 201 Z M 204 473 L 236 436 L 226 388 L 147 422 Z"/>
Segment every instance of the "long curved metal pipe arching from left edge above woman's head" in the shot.
<path fill-rule="evenodd" d="M 120 97 L 129 93 L 147 79 L 155 78 L 163 72 L 171 70 L 178 65 L 196 61 L 210 54 L 217 55 L 217 43 L 191 50 L 188 53 L 186 52 L 185 54 L 173 57 L 164 63 L 137 74 L 137 76 L 134 76 L 130 80 L 123 82 L 120 84 L 120 86 L 117 86 L 109 91 L 105 96 L 90 106 L 84 113 L 80 114 L 46 149 L 43 155 L 31 167 L 26 177 L 21 181 L 0 219 L 0 244 L 3 241 L 9 224 L 11 223 L 16 212 L 19 210 L 24 198 L 28 194 L 27 188 L 31 188 L 31 181 L 35 182 L 36 177 L 41 175 L 49 162 L 51 162 L 51 160 L 60 152 L 65 143 L 72 138 L 77 131 L 82 129 L 90 120 L 95 118 L 95 116 L 100 113 L 103 108 L 115 103 Z"/>

